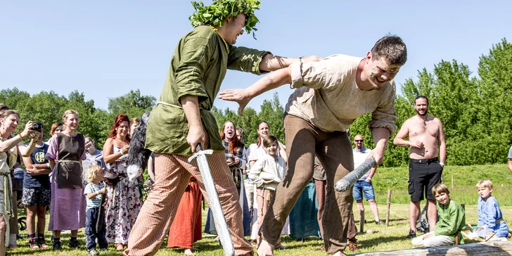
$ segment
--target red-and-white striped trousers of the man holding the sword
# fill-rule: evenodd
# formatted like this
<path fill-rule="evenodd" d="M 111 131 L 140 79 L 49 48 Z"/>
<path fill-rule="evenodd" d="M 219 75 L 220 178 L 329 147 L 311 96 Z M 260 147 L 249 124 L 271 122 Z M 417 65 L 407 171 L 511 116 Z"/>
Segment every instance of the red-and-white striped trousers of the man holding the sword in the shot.
<path fill-rule="evenodd" d="M 197 162 L 189 163 L 187 158 L 187 155 L 155 153 L 155 184 L 142 205 L 124 255 L 155 255 L 169 231 L 191 175 L 196 177 L 201 192 L 207 198 Z M 226 164 L 224 152 L 207 155 L 207 160 L 235 247 L 235 255 L 253 255 L 252 246 L 243 237 L 238 191 Z"/>

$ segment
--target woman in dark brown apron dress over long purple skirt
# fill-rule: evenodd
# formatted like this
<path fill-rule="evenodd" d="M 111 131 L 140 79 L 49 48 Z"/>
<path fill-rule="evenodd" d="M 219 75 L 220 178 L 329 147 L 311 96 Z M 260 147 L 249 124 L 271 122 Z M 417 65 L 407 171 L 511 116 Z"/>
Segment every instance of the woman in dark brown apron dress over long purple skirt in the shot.
<path fill-rule="evenodd" d="M 51 214 L 49 231 L 53 231 L 53 250 L 62 250 L 60 231 L 70 230 L 68 246 L 78 248 L 78 229 L 85 227 L 85 197 L 82 182 L 82 160 L 85 155 L 84 135 L 77 133 L 79 122 L 75 110 L 63 115 L 65 129 L 51 137 L 46 159 L 51 175 Z"/>

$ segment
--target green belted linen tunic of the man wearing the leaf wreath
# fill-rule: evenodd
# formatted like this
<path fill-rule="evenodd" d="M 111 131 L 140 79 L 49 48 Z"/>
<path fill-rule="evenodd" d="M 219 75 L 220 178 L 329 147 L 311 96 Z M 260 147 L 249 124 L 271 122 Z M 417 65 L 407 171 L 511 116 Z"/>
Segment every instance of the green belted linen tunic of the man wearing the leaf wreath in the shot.
<path fill-rule="evenodd" d="M 155 153 L 189 155 L 188 122 L 179 98 L 198 96 L 201 120 L 210 136 L 210 148 L 224 151 L 219 127 L 210 112 L 226 69 L 260 75 L 260 62 L 269 51 L 229 46 L 209 26 L 199 26 L 179 40 L 157 105 L 149 116 L 146 148 Z"/>

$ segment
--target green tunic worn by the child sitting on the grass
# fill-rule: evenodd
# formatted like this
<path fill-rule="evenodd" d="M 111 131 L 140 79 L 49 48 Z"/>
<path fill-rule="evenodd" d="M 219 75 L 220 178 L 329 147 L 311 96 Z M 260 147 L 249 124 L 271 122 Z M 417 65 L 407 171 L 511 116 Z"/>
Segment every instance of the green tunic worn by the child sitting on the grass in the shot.
<path fill-rule="evenodd" d="M 437 215 L 439 215 L 439 221 L 435 224 L 435 235 L 449 236 L 455 241 L 455 233 L 459 232 L 459 244 L 462 245 L 464 239 L 460 231 L 466 226 L 466 213 L 462 206 L 451 199 L 448 205 L 437 202 Z"/>

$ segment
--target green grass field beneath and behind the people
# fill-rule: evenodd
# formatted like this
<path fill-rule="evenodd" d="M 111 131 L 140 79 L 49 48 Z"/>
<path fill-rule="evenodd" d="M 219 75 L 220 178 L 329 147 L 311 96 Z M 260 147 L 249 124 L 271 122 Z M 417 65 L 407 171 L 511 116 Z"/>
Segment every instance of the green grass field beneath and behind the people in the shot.
<path fill-rule="evenodd" d="M 376 177 L 373 179 L 374 186 L 376 187 L 377 203 L 379 206 L 379 215 L 381 220 L 385 220 L 386 215 L 386 198 L 388 189 L 392 189 L 392 205 L 390 209 L 390 226 L 378 226 L 373 224 L 373 215 L 366 205 L 366 219 L 368 224 L 364 225 L 365 231 L 372 229 L 372 234 L 360 233 L 357 236 L 359 240 L 359 250 L 357 252 L 345 253 L 361 253 L 361 252 L 376 252 L 386 250 L 402 250 L 413 248 L 411 241 L 405 239 L 409 231 L 408 221 L 408 203 L 409 196 L 407 195 L 407 167 L 399 168 L 379 168 Z M 476 204 L 478 193 L 475 190 L 475 184 L 480 179 L 490 179 L 494 183 L 494 192 L 498 202 L 501 205 L 501 211 L 504 214 L 504 219 L 511 219 L 512 215 L 512 174 L 506 169 L 506 165 L 478 165 L 468 167 L 449 167 L 444 169 L 444 183 L 451 188 L 452 175 L 454 176 L 454 188 L 451 189 L 452 199 L 459 203 L 466 204 L 466 222 L 475 224 L 478 220 Z M 503 186 L 501 186 L 503 184 Z M 422 203 L 423 207 L 424 203 Z M 355 209 L 355 208 L 354 208 Z M 203 226 L 205 223 L 206 211 L 203 211 Z M 25 216 L 25 209 L 18 210 L 18 217 Z M 359 216 L 355 214 L 356 225 L 359 229 Z M 46 218 L 47 220 L 49 217 Z M 26 231 L 20 231 L 20 235 L 27 236 Z M 207 236 L 207 234 L 204 234 Z M 49 241 L 51 232 L 46 232 L 46 240 Z M 8 249 L 9 255 L 87 255 L 85 250 L 85 237 L 84 230 L 79 231 L 78 240 L 82 244 L 79 250 L 69 250 L 67 243 L 69 241 L 69 233 L 61 235 L 63 241 L 62 252 L 52 252 L 51 250 L 30 250 L 28 248 L 28 239 L 18 240 L 18 248 Z M 224 255 L 222 248 L 214 238 L 208 237 L 196 242 L 194 245 L 200 250 L 196 255 Z M 472 243 L 473 241 L 466 241 Z M 181 250 L 165 248 L 167 241 L 162 243 L 162 248 L 158 251 L 157 255 L 183 255 Z M 322 245 L 319 238 L 310 238 L 305 242 L 297 242 L 288 236 L 283 236 L 283 245 L 289 250 L 276 251 L 275 255 L 326 255 L 325 252 L 316 250 Z M 101 255 L 121 255 L 116 252 L 113 245 L 107 252 L 102 252 Z"/>

